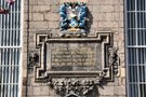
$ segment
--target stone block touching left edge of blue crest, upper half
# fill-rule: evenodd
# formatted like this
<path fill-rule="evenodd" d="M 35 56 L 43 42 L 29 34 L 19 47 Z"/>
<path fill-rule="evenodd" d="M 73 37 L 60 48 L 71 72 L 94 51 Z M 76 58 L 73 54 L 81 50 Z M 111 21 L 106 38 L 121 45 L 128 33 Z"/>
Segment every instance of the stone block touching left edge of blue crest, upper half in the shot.
<path fill-rule="evenodd" d="M 45 13 L 44 14 L 44 20 L 59 20 L 59 14 L 58 13 Z"/>

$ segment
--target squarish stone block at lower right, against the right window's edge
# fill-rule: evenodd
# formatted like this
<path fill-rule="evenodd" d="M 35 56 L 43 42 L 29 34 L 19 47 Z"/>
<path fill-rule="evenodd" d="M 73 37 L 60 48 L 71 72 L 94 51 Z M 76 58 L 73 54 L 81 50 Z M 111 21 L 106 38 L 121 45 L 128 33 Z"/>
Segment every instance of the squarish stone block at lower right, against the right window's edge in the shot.
<path fill-rule="evenodd" d="M 125 86 L 115 86 L 114 91 L 115 95 L 124 96 L 125 95 Z"/>

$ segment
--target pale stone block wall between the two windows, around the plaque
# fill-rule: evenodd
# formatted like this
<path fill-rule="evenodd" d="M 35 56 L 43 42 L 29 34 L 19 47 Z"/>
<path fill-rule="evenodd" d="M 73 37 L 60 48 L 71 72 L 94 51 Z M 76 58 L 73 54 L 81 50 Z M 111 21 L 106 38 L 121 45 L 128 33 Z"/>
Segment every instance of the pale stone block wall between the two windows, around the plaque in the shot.
<path fill-rule="evenodd" d="M 59 33 L 59 0 L 23 0 L 23 75 L 22 97 L 59 97 L 48 83 L 36 83 L 34 69 L 29 66 L 29 56 L 35 48 L 35 34 L 38 30 Z M 29 2 L 28 2 L 29 1 Z M 125 63 L 124 63 L 124 25 L 123 0 L 89 0 L 88 34 L 95 31 L 114 32 L 114 47 L 118 47 L 120 73 L 111 82 L 102 82 L 95 94 L 87 97 L 125 97 Z"/>

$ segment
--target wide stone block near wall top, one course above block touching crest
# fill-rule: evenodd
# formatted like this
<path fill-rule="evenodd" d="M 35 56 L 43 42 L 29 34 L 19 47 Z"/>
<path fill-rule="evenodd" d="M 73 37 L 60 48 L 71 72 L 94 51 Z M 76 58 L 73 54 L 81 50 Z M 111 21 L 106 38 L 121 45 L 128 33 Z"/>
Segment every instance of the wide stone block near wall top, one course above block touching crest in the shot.
<path fill-rule="evenodd" d="M 34 5 L 32 6 L 32 12 L 49 12 L 50 11 L 50 5 Z"/>

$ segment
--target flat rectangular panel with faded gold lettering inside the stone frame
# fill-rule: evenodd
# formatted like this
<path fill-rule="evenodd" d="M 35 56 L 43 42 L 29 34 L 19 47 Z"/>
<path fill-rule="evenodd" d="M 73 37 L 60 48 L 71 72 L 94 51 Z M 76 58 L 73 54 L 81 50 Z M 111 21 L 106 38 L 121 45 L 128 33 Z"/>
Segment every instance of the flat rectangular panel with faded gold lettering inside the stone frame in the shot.
<path fill-rule="evenodd" d="M 51 71 L 101 71 L 102 43 L 48 43 Z"/>

